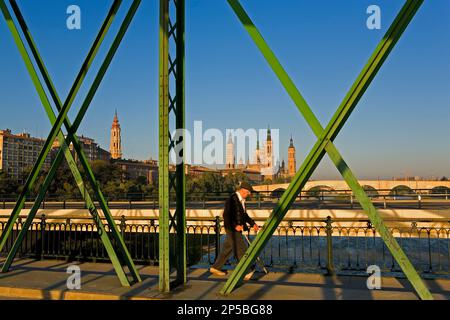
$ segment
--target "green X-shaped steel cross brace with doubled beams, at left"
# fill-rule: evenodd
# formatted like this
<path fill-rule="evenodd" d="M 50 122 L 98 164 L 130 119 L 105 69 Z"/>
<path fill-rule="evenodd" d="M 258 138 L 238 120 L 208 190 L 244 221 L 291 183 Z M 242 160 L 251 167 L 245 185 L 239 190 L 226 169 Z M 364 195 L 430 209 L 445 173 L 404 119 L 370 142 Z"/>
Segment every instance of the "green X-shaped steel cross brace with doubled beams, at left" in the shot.
<path fill-rule="evenodd" d="M 87 74 L 87 72 L 88 72 L 88 70 L 89 70 L 89 68 L 90 68 L 90 66 L 91 66 L 91 64 L 92 64 L 92 62 L 93 62 L 93 60 L 94 60 L 98 50 L 99 50 L 99 48 L 100 48 L 101 43 L 103 42 L 103 39 L 105 38 L 105 36 L 106 36 L 106 34 L 107 34 L 107 32 L 108 32 L 108 30 L 109 30 L 113 20 L 114 20 L 116 14 L 117 14 L 117 11 L 120 8 L 122 0 L 115 0 L 114 1 L 110 11 L 108 12 L 108 15 L 107 15 L 105 21 L 104 21 L 104 23 L 103 23 L 103 25 L 102 25 L 102 27 L 100 29 L 100 32 L 99 32 L 97 38 L 95 39 L 95 41 L 94 41 L 94 43 L 92 45 L 92 48 L 89 51 L 89 54 L 88 54 L 88 56 L 87 56 L 87 58 L 86 58 L 86 60 L 85 60 L 85 62 L 83 64 L 83 66 L 82 66 L 82 68 L 81 68 L 81 70 L 80 70 L 80 72 L 79 72 L 79 74 L 78 74 L 78 76 L 77 76 L 77 78 L 76 78 L 76 80 L 74 82 L 74 85 L 72 86 L 72 88 L 71 88 L 71 90 L 69 92 L 69 95 L 68 95 L 64 105 L 62 105 L 62 103 L 61 103 L 61 100 L 60 100 L 60 98 L 59 98 L 59 96 L 58 96 L 58 94 L 56 92 L 56 89 L 55 89 L 52 81 L 51 81 L 51 78 L 50 78 L 50 76 L 48 74 L 48 71 L 45 68 L 43 60 L 42 60 L 42 58 L 41 58 L 41 56 L 40 56 L 40 54 L 39 54 L 39 52 L 37 50 L 37 47 L 36 47 L 36 45 L 35 45 L 35 43 L 33 41 L 33 38 L 31 37 L 31 34 L 30 34 L 29 30 L 28 30 L 28 27 L 27 27 L 27 25 L 25 23 L 25 20 L 24 20 L 22 14 L 20 12 L 20 9 L 19 9 L 16 1 L 15 0 L 10 0 L 10 4 L 11 4 L 13 10 L 14 10 L 16 18 L 17 18 L 17 20 L 19 22 L 19 25 L 20 25 L 21 29 L 22 29 L 22 32 L 25 35 L 27 43 L 28 43 L 28 45 L 29 45 L 29 47 L 30 47 L 30 49 L 32 51 L 33 57 L 35 58 L 36 63 L 37 63 L 37 65 L 38 65 L 38 67 L 39 67 L 39 69 L 41 71 L 42 77 L 43 77 L 43 79 L 44 79 L 44 81 L 45 81 L 45 83 L 47 85 L 47 89 L 49 90 L 49 92 L 50 92 L 50 94 L 51 94 L 51 96 L 53 98 L 53 101 L 54 101 L 54 103 L 55 103 L 55 105 L 56 105 L 56 107 L 57 107 L 57 109 L 59 111 L 58 117 L 56 117 L 54 112 L 53 112 L 53 109 L 52 109 L 52 107 L 50 105 L 50 102 L 49 102 L 49 100 L 47 98 L 45 90 L 44 90 L 44 88 L 43 88 L 43 86 L 42 86 L 42 84 L 41 84 L 41 82 L 39 80 L 39 76 L 38 76 L 38 74 L 37 74 L 37 72 L 36 72 L 36 70 L 35 70 L 35 68 L 33 66 L 33 63 L 32 63 L 32 61 L 31 61 L 31 59 L 30 59 L 30 57 L 28 55 L 28 52 L 27 52 L 27 50 L 26 50 L 26 48 L 24 46 L 24 43 L 23 43 L 23 41 L 22 41 L 22 39 L 20 37 L 20 34 L 19 34 L 15 24 L 14 24 L 14 21 L 11 18 L 11 14 L 10 14 L 10 12 L 8 10 L 8 7 L 6 6 L 4 0 L 0 0 L 0 7 L 1 7 L 1 10 L 2 10 L 2 13 L 3 13 L 3 15 L 4 15 L 4 17 L 5 17 L 6 21 L 7 21 L 8 27 L 9 27 L 9 29 L 10 29 L 13 37 L 14 37 L 16 45 L 17 45 L 17 47 L 18 47 L 18 49 L 19 49 L 19 51 L 20 51 L 20 53 L 22 55 L 22 58 L 23 58 L 23 60 L 25 62 L 25 65 L 26 65 L 26 67 L 28 69 L 28 72 L 30 73 L 30 76 L 31 76 L 31 78 L 33 80 L 33 83 L 34 83 L 34 85 L 36 87 L 36 90 L 37 90 L 37 92 L 39 94 L 39 97 L 41 99 L 41 102 L 42 102 L 42 104 L 43 104 L 43 106 L 45 108 L 45 111 L 47 112 L 47 115 L 48 115 L 48 117 L 49 117 L 49 119 L 50 119 L 50 121 L 51 121 L 51 123 L 53 125 L 52 130 L 51 130 L 51 132 L 50 132 L 50 134 L 49 134 L 49 136 L 48 136 L 48 138 L 47 138 L 47 140 L 46 140 L 46 142 L 44 144 L 44 147 L 43 147 L 41 153 L 39 154 L 38 160 L 37 160 L 35 166 L 33 167 L 32 171 L 30 173 L 30 176 L 27 179 L 27 182 L 26 182 L 26 184 L 24 186 L 24 190 L 20 194 L 19 199 L 18 199 L 18 201 L 17 201 L 17 203 L 16 203 L 16 205 L 14 207 L 14 210 L 13 210 L 13 212 L 12 212 L 12 214 L 11 214 L 7 224 L 6 224 L 6 227 L 4 228 L 4 231 L 3 231 L 3 233 L 2 233 L 2 235 L 0 237 L 0 250 L 5 245 L 6 240 L 7 240 L 8 236 L 10 235 L 10 233 L 12 231 L 13 225 L 16 222 L 17 217 L 19 216 L 21 209 L 23 208 L 26 196 L 28 195 L 29 191 L 33 187 L 33 185 L 34 185 L 34 183 L 35 183 L 35 181 L 37 179 L 38 173 L 39 173 L 39 171 L 42 168 L 43 161 L 47 157 L 47 155 L 48 155 L 48 153 L 49 153 L 49 151 L 51 149 L 51 145 L 53 144 L 55 138 L 58 137 L 59 142 L 61 143 L 61 149 L 59 150 L 59 152 L 58 152 L 58 154 L 56 156 L 56 159 L 55 159 L 52 167 L 50 168 L 50 171 L 49 171 L 49 173 L 48 173 L 48 175 L 47 175 L 47 177 L 46 177 L 42 187 L 39 190 L 39 193 L 38 193 L 38 196 L 36 198 L 36 201 L 35 201 L 32 209 L 31 209 L 31 211 L 30 211 L 30 213 L 29 213 L 29 215 L 28 215 L 28 217 L 26 219 L 26 222 L 22 226 L 22 228 L 21 228 L 21 230 L 19 232 L 19 235 L 18 235 L 17 239 L 15 240 L 15 242 L 13 244 L 12 249 L 11 249 L 11 251 L 8 254 L 8 257 L 7 257 L 5 263 L 4 263 L 3 267 L 2 267 L 2 272 L 6 272 L 6 271 L 9 270 L 14 257 L 16 255 L 18 249 L 21 246 L 22 240 L 25 237 L 26 232 L 28 231 L 28 229 L 29 229 L 29 227 L 30 227 L 30 225 L 31 225 L 31 223 L 32 223 L 32 221 L 34 219 L 34 217 L 35 217 L 35 215 L 37 213 L 37 210 L 40 207 L 40 204 L 41 204 L 42 200 L 44 199 L 45 193 L 47 192 L 48 187 L 50 186 L 51 182 L 53 181 L 53 178 L 54 178 L 54 176 L 56 174 L 56 170 L 57 170 L 58 166 L 61 164 L 63 157 L 65 156 L 67 161 L 68 161 L 69 167 L 70 167 L 70 169 L 72 171 L 72 174 L 74 175 L 74 178 L 75 178 L 75 180 L 77 182 L 77 185 L 78 185 L 78 187 L 80 189 L 80 192 L 81 192 L 81 194 L 84 197 L 84 200 L 86 202 L 87 208 L 88 208 L 89 212 L 91 213 L 91 215 L 94 218 L 94 222 L 96 223 L 96 226 L 97 226 L 97 231 L 98 231 L 98 233 L 100 235 L 100 238 L 101 238 L 103 244 L 105 245 L 107 253 L 108 253 L 108 255 L 109 255 L 110 259 L 111 259 L 111 262 L 113 263 L 113 266 L 114 266 L 114 268 L 116 270 L 116 273 L 117 273 L 117 275 L 119 277 L 119 280 L 120 280 L 121 284 L 123 286 L 129 286 L 130 285 L 130 282 L 129 282 L 126 274 L 125 274 L 125 270 L 122 267 L 122 263 L 125 263 L 127 265 L 127 267 L 129 269 L 129 271 L 130 271 L 134 281 L 136 281 L 136 282 L 141 281 L 139 273 L 138 273 L 138 271 L 137 271 L 137 269 L 136 269 L 136 267 L 135 267 L 135 265 L 134 265 L 134 263 L 133 263 L 133 261 L 131 259 L 131 256 L 130 256 L 130 254 L 129 254 L 126 246 L 125 246 L 125 243 L 124 243 L 124 241 L 123 241 L 123 239 L 122 239 L 122 237 L 121 237 L 121 235 L 120 235 L 120 233 L 119 233 L 119 231 L 117 229 L 117 226 L 116 226 L 116 224 L 114 222 L 114 219 L 113 219 L 113 217 L 111 215 L 111 212 L 109 211 L 109 208 L 108 208 L 108 206 L 106 204 L 106 200 L 103 197 L 103 194 L 102 194 L 102 192 L 101 192 L 101 190 L 99 188 L 99 185 L 98 185 L 98 183 L 97 183 L 97 181 L 96 181 L 96 179 L 95 179 L 95 177 L 93 175 L 93 172 L 92 172 L 92 170 L 90 168 L 90 165 L 88 163 L 87 157 L 84 154 L 84 151 L 83 151 L 83 149 L 80 146 L 78 138 L 75 135 L 76 131 L 78 130 L 78 128 L 79 128 L 79 126 L 81 124 L 82 119 L 84 118 L 84 116 L 86 114 L 86 111 L 87 111 L 90 103 L 92 102 L 92 99 L 94 98 L 94 95 L 95 95 L 98 87 L 100 86 L 100 83 L 101 83 L 104 75 L 106 74 L 106 71 L 107 71 L 107 69 L 108 69 L 108 67 L 109 67 L 109 65 L 110 65 L 110 63 L 111 63 L 111 61 L 112 61 L 112 59 L 113 59 L 113 57 L 114 57 L 118 47 L 119 47 L 119 45 L 120 45 L 120 42 L 123 39 L 123 37 L 124 37 L 128 27 L 129 27 L 132 19 L 133 19 L 134 15 L 135 15 L 139 5 L 140 5 L 140 2 L 141 2 L 141 0 L 134 0 L 132 6 L 130 7 L 130 9 L 129 9 L 128 13 L 127 13 L 127 16 L 125 17 L 125 19 L 124 19 L 124 21 L 123 21 L 123 23 L 121 25 L 121 28 L 119 29 L 119 32 L 118 32 L 117 36 L 115 37 L 115 39 L 113 41 L 113 44 L 112 44 L 112 46 L 111 46 L 111 48 L 110 48 L 110 50 L 109 50 L 109 52 L 108 52 L 104 62 L 103 62 L 103 64 L 101 65 L 100 70 L 99 70 L 99 72 L 98 72 L 98 74 L 97 74 L 97 76 L 96 76 L 96 78 L 95 78 L 95 80 L 94 80 L 94 82 L 93 82 L 93 84 L 92 84 L 88 94 L 87 94 L 87 97 L 85 98 L 85 100 L 84 100 L 84 102 L 82 104 L 82 107 L 80 108 L 80 110 L 79 110 L 79 112 L 77 114 L 76 120 L 71 125 L 69 120 L 67 119 L 67 114 L 69 112 L 69 109 L 70 109 L 70 107 L 71 107 L 71 105 L 72 105 L 72 103 L 73 103 L 73 101 L 74 101 L 74 99 L 75 99 L 75 97 L 76 97 L 76 95 L 77 95 L 77 93 L 78 93 L 82 83 L 83 83 L 83 80 L 84 80 L 84 78 L 85 78 L 85 76 L 86 76 L 86 74 Z M 66 127 L 66 129 L 68 131 L 67 138 L 64 138 L 64 135 L 63 135 L 63 133 L 61 131 L 61 126 L 62 126 L 63 123 L 64 123 L 64 125 L 65 125 L 65 127 Z M 82 165 L 82 167 L 83 167 L 83 169 L 84 169 L 84 171 L 85 171 L 85 173 L 87 175 L 88 181 L 89 181 L 89 183 L 90 183 L 90 185 L 91 185 L 91 187 L 92 187 L 92 189 L 93 189 L 93 191 L 94 191 L 94 193 L 95 193 L 95 195 L 96 195 L 96 197 L 97 197 L 97 199 L 99 201 L 100 207 L 103 210 L 105 218 L 106 218 L 106 220 L 108 222 L 109 231 L 111 232 L 111 234 L 113 236 L 113 239 L 115 240 L 116 245 L 118 246 L 118 250 L 119 250 L 119 254 L 120 254 L 119 256 L 116 254 L 114 246 L 113 246 L 113 244 L 111 242 L 111 239 L 109 238 L 109 236 L 107 234 L 107 231 L 105 229 L 105 226 L 102 223 L 101 218 L 99 217 L 97 209 L 96 209 L 96 207 L 95 207 L 95 205 L 94 205 L 94 203 L 92 201 L 92 198 L 89 196 L 89 193 L 86 192 L 86 188 L 84 186 L 82 176 L 81 176 L 80 172 L 78 171 L 78 168 L 76 166 L 76 162 L 73 159 L 72 154 L 70 153 L 70 150 L 68 148 L 70 143 L 73 144 L 74 149 L 75 149 L 76 153 L 78 154 L 78 156 L 80 158 L 80 163 L 81 163 L 81 165 Z"/>

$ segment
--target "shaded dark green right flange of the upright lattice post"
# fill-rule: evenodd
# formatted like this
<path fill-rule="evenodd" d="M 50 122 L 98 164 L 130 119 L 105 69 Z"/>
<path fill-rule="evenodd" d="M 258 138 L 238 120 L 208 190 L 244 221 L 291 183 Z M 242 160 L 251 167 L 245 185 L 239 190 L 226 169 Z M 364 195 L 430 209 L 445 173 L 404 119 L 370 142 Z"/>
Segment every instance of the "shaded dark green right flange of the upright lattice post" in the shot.
<path fill-rule="evenodd" d="M 185 0 L 176 0 L 176 128 L 184 132 L 185 128 Z M 177 282 L 184 284 L 186 278 L 186 171 L 185 171 L 185 136 L 177 144 L 183 150 L 183 162 L 177 164 L 176 171 L 176 258 Z"/>

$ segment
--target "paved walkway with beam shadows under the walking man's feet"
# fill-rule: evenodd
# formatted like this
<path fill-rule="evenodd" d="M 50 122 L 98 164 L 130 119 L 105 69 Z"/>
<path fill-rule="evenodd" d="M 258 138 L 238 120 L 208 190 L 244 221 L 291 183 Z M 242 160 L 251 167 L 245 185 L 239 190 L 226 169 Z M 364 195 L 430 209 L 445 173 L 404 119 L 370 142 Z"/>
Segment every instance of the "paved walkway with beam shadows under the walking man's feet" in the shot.
<path fill-rule="evenodd" d="M 0 259 L 0 263 L 2 263 Z M 226 277 L 206 269 L 190 269 L 188 284 L 170 295 L 158 291 L 158 268 L 139 266 L 142 282 L 121 287 L 111 264 L 74 263 L 81 268 L 81 289 L 68 290 L 67 267 L 72 263 L 16 260 L 11 271 L 0 274 L 1 297 L 22 299 L 176 299 L 176 300 L 373 300 L 417 299 L 406 279 L 383 278 L 382 290 L 368 290 L 365 277 L 319 274 L 255 274 L 231 295 L 219 294 Z M 450 300 L 450 280 L 426 280 L 435 299 Z"/>

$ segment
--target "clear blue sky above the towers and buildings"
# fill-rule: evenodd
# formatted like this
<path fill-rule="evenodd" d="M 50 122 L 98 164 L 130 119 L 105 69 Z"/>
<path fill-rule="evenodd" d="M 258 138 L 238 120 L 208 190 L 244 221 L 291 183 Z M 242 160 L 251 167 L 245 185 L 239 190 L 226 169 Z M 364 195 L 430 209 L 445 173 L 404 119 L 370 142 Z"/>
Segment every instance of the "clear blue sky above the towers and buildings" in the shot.
<path fill-rule="evenodd" d="M 68 93 L 112 1 L 19 0 L 62 97 Z M 106 43 L 125 14 L 124 1 Z M 282 5 L 280 5 L 282 3 Z M 400 10 L 402 0 L 242 0 L 263 36 L 325 126 Z M 82 29 L 66 28 L 79 5 Z M 79 130 L 108 149 L 118 109 L 127 158 L 157 158 L 158 4 L 143 0 Z M 382 29 L 366 28 L 379 5 Z M 336 140 L 360 178 L 450 176 L 450 1 L 425 1 Z M 188 0 L 187 128 L 280 130 L 281 157 L 292 134 L 297 164 L 315 137 L 225 0 Z M 80 92 L 92 82 L 100 51 Z M 0 128 L 46 137 L 50 125 L 13 43 L 0 22 Z M 82 99 L 77 99 L 74 118 Z M 325 158 L 314 178 L 339 178 Z"/>

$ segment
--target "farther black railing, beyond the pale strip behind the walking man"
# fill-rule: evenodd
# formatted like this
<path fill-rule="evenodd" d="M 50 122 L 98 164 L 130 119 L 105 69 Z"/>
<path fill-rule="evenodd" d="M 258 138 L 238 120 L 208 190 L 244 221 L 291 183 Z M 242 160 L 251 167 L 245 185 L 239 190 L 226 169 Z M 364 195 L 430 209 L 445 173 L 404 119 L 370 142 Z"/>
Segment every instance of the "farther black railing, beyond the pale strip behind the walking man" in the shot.
<path fill-rule="evenodd" d="M 450 189 L 449 189 L 450 190 Z M 383 209 L 439 209 L 450 207 L 450 191 L 441 189 L 408 189 L 408 190 L 367 190 L 367 195 L 377 208 Z M 223 208 L 224 201 L 230 193 L 190 193 L 186 195 L 188 209 Z M 259 192 L 247 200 L 249 209 L 271 209 L 280 200 L 282 192 Z M 111 209 L 158 209 L 157 194 L 133 193 L 121 196 L 106 196 Z M 25 208 L 31 208 L 34 197 L 29 196 Z M 94 201 L 97 201 L 94 199 Z M 16 196 L 0 195 L 0 209 L 12 209 Z M 175 205 L 175 199 L 171 199 Z M 48 195 L 41 204 L 42 209 L 85 209 L 83 198 Z M 361 209 L 351 190 L 316 190 L 302 191 L 292 204 L 292 208 L 322 208 L 322 209 Z"/>

